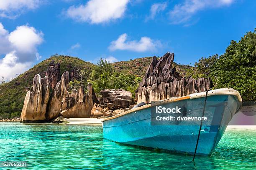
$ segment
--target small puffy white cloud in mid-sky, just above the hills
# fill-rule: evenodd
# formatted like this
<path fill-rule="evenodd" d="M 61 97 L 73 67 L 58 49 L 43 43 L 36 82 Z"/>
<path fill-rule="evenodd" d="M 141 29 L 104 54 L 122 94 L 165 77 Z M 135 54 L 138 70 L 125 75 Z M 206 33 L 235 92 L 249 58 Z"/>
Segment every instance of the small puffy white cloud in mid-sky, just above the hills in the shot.
<path fill-rule="evenodd" d="M 152 40 L 150 37 L 141 37 L 139 41 L 127 41 L 127 34 L 122 34 L 117 40 L 112 41 L 109 50 L 131 50 L 136 52 L 145 52 L 156 50 L 157 47 L 161 46 L 161 42 L 158 40 Z"/>

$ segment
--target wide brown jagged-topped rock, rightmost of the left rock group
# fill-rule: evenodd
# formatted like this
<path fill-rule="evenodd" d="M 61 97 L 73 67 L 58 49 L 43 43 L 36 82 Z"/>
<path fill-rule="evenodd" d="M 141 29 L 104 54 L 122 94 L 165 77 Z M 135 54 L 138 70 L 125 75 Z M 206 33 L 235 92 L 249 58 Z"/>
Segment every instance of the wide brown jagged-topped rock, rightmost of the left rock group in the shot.
<path fill-rule="evenodd" d="M 64 100 L 61 102 L 61 115 L 63 117 L 91 117 L 91 110 L 95 103 L 99 103 L 92 84 L 87 86 L 88 92 L 84 92 L 81 86 L 79 90 L 73 90 L 71 95 L 66 93 Z"/>

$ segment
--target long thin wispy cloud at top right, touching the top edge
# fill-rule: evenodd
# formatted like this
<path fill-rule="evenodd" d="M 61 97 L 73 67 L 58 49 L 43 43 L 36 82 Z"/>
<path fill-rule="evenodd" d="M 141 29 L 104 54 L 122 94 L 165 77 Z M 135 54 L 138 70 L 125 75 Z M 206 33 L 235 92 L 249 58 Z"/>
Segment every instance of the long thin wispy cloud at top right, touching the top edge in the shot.
<path fill-rule="evenodd" d="M 200 10 L 228 6 L 233 2 L 234 0 L 185 0 L 184 3 L 175 5 L 170 11 L 170 19 L 173 24 L 184 24 Z"/>

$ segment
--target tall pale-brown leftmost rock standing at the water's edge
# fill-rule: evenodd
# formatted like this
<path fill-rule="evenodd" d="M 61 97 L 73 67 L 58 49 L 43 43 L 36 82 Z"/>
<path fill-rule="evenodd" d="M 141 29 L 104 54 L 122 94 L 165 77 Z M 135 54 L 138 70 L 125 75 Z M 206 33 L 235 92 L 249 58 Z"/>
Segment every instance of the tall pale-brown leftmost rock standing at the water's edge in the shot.
<path fill-rule="evenodd" d="M 33 78 L 33 87 L 27 92 L 23 109 L 20 116 L 20 122 L 44 122 L 46 121 L 46 107 L 49 100 L 50 85 L 48 77 L 41 78 L 35 75 Z"/>

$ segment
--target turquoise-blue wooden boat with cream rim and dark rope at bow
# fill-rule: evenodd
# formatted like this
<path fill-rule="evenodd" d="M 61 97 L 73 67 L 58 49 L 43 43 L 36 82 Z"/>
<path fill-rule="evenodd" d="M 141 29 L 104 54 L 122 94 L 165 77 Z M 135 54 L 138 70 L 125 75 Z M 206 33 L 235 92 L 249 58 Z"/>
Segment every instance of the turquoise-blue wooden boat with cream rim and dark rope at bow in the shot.
<path fill-rule="evenodd" d="M 207 101 L 205 96 L 207 94 Z M 218 145 L 225 129 L 241 108 L 241 95 L 232 88 L 169 98 L 133 108 L 103 122 L 103 136 L 113 142 L 159 148 L 177 153 L 210 155 Z M 204 105 L 205 103 L 205 105 Z M 159 113 L 156 106 L 181 108 L 181 113 Z M 207 120 L 201 121 L 202 116 Z M 175 117 L 175 120 L 156 120 L 159 117 Z M 182 120 L 177 120 L 177 117 Z M 184 120 L 184 117 L 186 117 Z M 188 120 L 197 117 L 197 120 Z M 200 130 L 200 131 L 199 131 Z M 197 137 L 200 138 L 197 144 Z"/>

